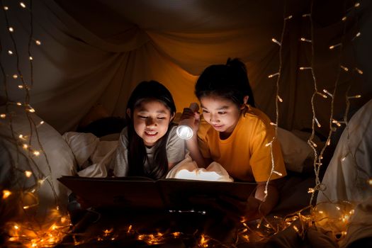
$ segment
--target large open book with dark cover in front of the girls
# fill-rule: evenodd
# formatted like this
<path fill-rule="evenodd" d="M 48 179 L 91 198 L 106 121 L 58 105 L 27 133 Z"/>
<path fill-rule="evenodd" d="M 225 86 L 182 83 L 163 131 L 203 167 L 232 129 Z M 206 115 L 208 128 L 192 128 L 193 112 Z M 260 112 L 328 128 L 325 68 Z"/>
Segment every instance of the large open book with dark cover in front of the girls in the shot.
<path fill-rule="evenodd" d="M 205 208 L 191 199 L 218 200 L 221 195 L 247 200 L 257 184 L 249 182 L 152 180 L 146 177 L 91 178 L 62 176 L 58 179 L 94 208 L 183 210 Z"/>

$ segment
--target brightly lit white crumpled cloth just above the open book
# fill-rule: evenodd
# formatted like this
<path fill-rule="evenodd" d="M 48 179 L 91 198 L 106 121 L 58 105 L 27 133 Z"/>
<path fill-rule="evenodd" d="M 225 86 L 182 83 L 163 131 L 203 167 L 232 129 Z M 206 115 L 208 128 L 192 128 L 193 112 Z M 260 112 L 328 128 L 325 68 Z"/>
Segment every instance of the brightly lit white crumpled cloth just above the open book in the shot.
<path fill-rule="evenodd" d="M 187 153 L 186 158 L 176 164 L 167 174 L 167 179 L 189 179 L 203 181 L 234 181 L 227 171 L 217 162 L 205 168 L 199 168 Z"/>

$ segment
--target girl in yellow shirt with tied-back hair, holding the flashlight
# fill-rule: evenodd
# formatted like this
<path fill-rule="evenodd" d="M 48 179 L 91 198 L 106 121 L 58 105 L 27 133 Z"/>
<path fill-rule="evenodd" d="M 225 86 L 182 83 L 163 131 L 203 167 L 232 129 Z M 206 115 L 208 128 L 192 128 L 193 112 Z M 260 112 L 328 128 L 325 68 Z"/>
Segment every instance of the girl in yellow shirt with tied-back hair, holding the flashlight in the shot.
<path fill-rule="evenodd" d="M 195 94 L 202 117 L 189 108 L 181 117 L 195 118 L 192 128 L 198 135 L 186 140 L 191 157 L 199 167 L 218 162 L 236 181 L 256 181 L 257 190 L 249 201 L 225 200 L 246 219 L 266 215 L 278 202 L 275 179 L 286 176 L 286 169 L 269 117 L 254 107 L 244 63 L 229 59 L 207 67 L 196 82 Z"/>

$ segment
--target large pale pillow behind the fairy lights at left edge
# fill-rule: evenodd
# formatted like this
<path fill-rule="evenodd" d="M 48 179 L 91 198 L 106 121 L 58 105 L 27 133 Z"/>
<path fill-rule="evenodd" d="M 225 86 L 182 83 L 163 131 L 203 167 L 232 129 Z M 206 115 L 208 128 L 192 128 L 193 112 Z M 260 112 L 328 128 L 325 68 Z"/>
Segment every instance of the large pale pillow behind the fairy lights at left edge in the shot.
<path fill-rule="evenodd" d="M 69 190 L 60 184 L 57 178 L 62 175 L 75 174 L 74 155 L 69 146 L 62 139 L 62 135 L 52 126 L 47 123 L 40 124 L 42 120 L 38 115 L 29 113 L 29 119 L 23 106 L 9 105 L 8 113 L 6 113 L 5 106 L 0 106 L 0 114 L 4 113 L 6 118 L 0 118 L 1 188 L 10 191 L 22 190 L 23 192 L 32 191 L 33 188 L 36 188 L 35 196 L 38 196 L 39 204 L 27 211 L 35 214 L 35 217 L 39 219 L 45 218 L 49 210 L 51 208 L 55 209 L 57 205 L 60 210 L 65 210 Z M 11 113 L 13 132 L 10 126 L 9 113 Z M 31 133 L 30 147 L 32 150 L 40 151 L 39 156 L 31 154 L 28 157 L 27 150 L 22 147 L 23 144 L 29 145 Z M 27 137 L 22 140 L 19 135 L 26 135 Z M 16 142 L 18 145 L 16 145 Z M 41 152 L 41 147 L 43 147 L 46 157 Z M 25 171 L 32 171 L 33 174 L 27 177 Z M 43 184 L 38 184 L 39 179 L 45 179 Z M 40 185 L 40 188 L 37 187 L 38 185 Z M 35 203 L 35 199 L 32 197 L 29 201 L 29 203 L 24 202 L 22 204 Z M 18 203 L 21 204 L 21 201 L 18 201 Z M 15 206 L 9 207 L 14 208 Z"/>

